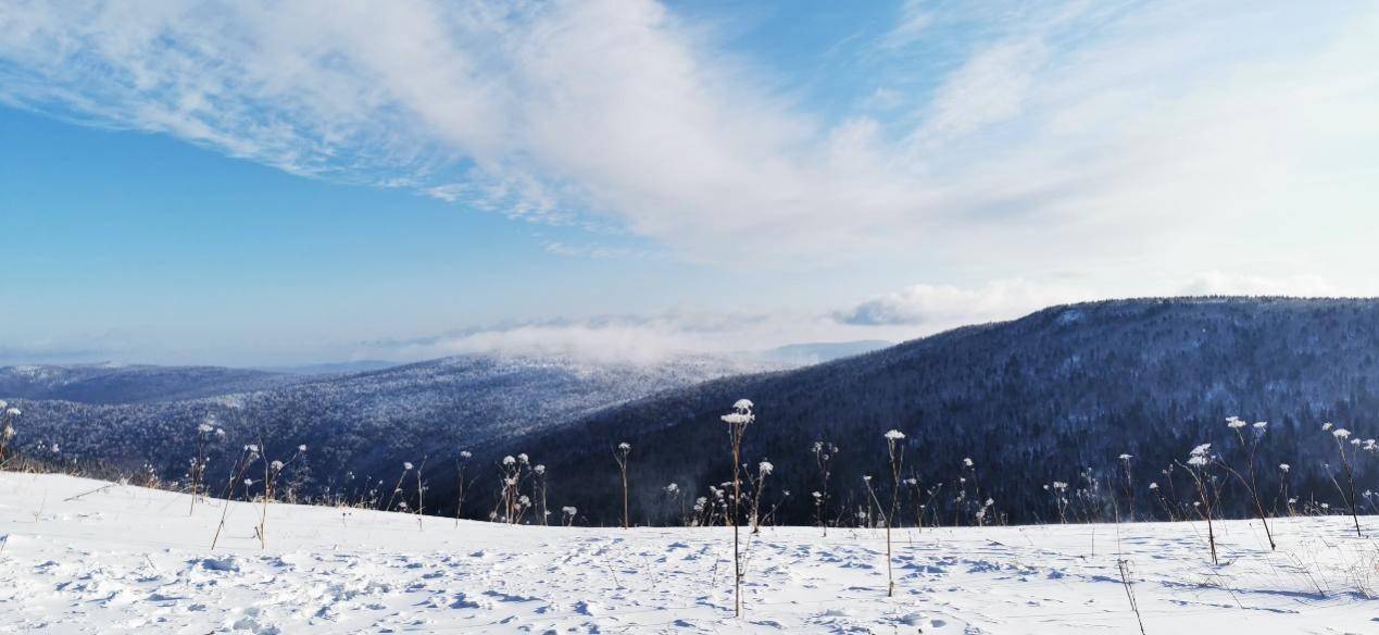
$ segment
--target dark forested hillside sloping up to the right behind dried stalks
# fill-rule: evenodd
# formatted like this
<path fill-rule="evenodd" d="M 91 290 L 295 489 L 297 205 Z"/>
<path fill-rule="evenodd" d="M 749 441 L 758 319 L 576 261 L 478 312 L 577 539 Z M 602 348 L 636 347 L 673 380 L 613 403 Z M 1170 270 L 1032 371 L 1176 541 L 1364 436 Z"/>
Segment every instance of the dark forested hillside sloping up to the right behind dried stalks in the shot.
<path fill-rule="evenodd" d="M 1172 478 L 1161 471 L 1186 461 L 1200 443 L 1214 443 L 1214 451 L 1244 469 L 1240 442 L 1225 424 L 1240 416 L 1267 421 L 1256 458 L 1266 504 L 1285 504 L 1277 465 L 1288 462 L 1295 496 L 1338 505 L 1328 473 L 1339 478 L 1340 464 L 1321 425 L 1333 421 L 1354 431 L 1351 440 L 1379 433 L 1376 353 L 1379 302 L 1371 300 L 1055 306 L 801 370 L 710 381 L 597 413 L 481 458 L 528 453 L 546 465 L 552 500 L 576 505 L 590 522 L 614 523 L 621 480 L 611 449 L 627 442 L 634 518 L 663 520 L 678 514 L 676 497 L 663 491 L 667 483 L 692 501 L 729 479 L 727 427 L 718 417 L 746 398 L 756 402 L 757 422 L 746 433 L 745 462 L 752 472 L 761 460 L 772 462 L 764 498 L 782 501 L 779 522 L 814 522 L 811 491 L 823 489 L 812 451 L 818 440 L 840 447 L 830 516 L 849 520 L 866 507 L 863 475 L 876 478 L 884 498 L 889 468 L 883 433 L 892 428 L 906 435 L 905 476 L 917 480 L 903 496 L 917 505 L 938 487 L 929 512 L 945 522 L 974 522 L 986 498 L 993 500 L 992 516 L 1047 520 L 1056 505 L 1043 486 L 1055 480 L 1070 483 L 1067 497 L 1105 507 L 1107 515 L 1107 494 L 1128 505 L 1125 489 L 1132 487 L 1143 518 L 1161 507 L 1151 482 L 1176 501 L 1186 498 L 1185 469 L 1175 468 Z M 1245 429 L 1247 442 L 1254 429 Z M 1367 480 L 1379 473 L 1371 468 L 1375 456 L 1351 449 L 1364 487 L 1379 487 Z M 1125 482 L 1125 465 L 1134 485 Z M 1238 486 L 1222 478 L 1223 489 Z M 960 491 L 965 496 L 957 501 Z M 1223 501 L 1226 511 L 1244 512 L 1244 497 Z"/>

